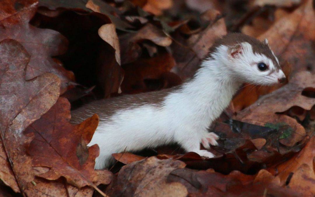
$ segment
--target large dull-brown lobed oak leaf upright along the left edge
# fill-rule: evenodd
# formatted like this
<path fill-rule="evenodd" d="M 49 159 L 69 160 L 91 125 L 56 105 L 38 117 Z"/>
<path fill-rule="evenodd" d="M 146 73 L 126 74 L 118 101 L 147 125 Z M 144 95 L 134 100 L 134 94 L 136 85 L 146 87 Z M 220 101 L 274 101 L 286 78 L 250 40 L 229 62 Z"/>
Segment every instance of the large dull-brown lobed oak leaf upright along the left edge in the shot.
<path fill-rule="evenodd" d="M 25 80 L 30 58 L 19 42 L 0 42 L 0 179 L 15 192 L 22 192 L 34 178 L 24 147 L 31 136 L 22 132 L 49 110 L 60 94 L 60 79 L 54 74 Z"/>

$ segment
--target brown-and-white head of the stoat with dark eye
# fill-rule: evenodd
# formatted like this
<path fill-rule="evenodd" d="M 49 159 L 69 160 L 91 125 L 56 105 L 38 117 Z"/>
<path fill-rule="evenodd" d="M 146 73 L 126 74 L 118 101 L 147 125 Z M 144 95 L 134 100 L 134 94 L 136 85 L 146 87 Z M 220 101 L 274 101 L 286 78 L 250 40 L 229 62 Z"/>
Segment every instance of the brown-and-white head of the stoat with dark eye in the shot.
<path fill-rule="evenodd" d="M 261 42 L 253 37 L 234 33 L 223 37 L 218 47 L 220 46 L 225 48 L 224 54 L 221 50 L 220 59 L 225 60 L 228 72 L 240 82 L 272 85 L 285 81 L 278 58 L 270 49 L 267 39 Z"/>

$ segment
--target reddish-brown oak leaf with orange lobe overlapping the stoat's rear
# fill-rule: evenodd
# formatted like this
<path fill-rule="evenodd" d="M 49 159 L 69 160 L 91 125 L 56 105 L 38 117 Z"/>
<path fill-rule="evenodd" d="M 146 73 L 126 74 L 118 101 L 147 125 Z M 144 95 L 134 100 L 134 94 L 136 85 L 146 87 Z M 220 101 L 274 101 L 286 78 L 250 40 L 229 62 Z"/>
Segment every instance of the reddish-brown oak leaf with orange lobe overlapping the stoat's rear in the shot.
<path fill-rule="evenodd" d="M 87 147 L 98 125 L 98 116 L 95 114 L 78 125 L 72 125 L 70 119 L 70 103 L 60 97 L 46 114 L 25 130 L 25 133 L 35 134 L 28 154 L 32 157 L 33 169 L 39 172 L 36 176 L 48 180 L 65 177 L 78 188 L 89 185 L 96 189 L 99 179 L 108 184 L 112 173 L 94 170 L 98 146 Z"/>

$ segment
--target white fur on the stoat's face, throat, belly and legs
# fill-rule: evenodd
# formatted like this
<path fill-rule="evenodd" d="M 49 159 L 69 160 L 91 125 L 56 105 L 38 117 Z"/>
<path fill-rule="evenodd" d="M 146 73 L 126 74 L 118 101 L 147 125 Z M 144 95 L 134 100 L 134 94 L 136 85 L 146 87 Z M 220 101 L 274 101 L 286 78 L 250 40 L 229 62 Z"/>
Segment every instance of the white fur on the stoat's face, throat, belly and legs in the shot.
<path fill-rule="evenodd" d="M 111 154 L 136 151 L 177 142 L 186 151 L 213 157 L 207 150 L 200 150 L 200 143 L 209 148 L 216 145 L 217 135 L 209 133 L 210 126 L 230 103 L 233 94 L 243 82 L 273 84 L 282 71 L 267 76 L 257 64 L 272 61 L 261 54 L 253 54 L 251 45 L 243 42 L 242 54 L 231 57 L 227 46 L 220 46 L 202 62 L 195 77 L 183 84 L 177 92 L 170 93 L 162 105 L 143 105 L 117 111 L 109 120 L 100 121 L 89 146 L 98 144 L 100 155 L 95 168 L 111 163 Z M 269 70 L 270 71 L 270 70 Z"/>

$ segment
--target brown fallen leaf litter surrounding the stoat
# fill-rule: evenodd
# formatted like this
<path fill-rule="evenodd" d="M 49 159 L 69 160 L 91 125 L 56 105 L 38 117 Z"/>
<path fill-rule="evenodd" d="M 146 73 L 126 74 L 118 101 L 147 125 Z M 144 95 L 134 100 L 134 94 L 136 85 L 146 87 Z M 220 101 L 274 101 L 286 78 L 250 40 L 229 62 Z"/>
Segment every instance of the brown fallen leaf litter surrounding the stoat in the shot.
<path fill-rule="evenodd" d="M 5 0 L 0 6 L 0 191 L 314 195 L 313 1 L 209 2 Z M 209 128 L 220 136 L 210 149 L 216 157 L 185 153 L 174 144 L 116 153 L 112 172 L 94 170 L 98 147 L 87 144 L 98 117 L 72 125 L 66 98 L 74 109 L 97 98 L 178 85 L 229 31 L 268 38 L 288 80 L 239 90 Z"/>

